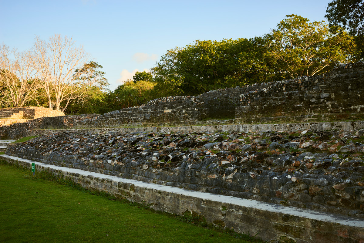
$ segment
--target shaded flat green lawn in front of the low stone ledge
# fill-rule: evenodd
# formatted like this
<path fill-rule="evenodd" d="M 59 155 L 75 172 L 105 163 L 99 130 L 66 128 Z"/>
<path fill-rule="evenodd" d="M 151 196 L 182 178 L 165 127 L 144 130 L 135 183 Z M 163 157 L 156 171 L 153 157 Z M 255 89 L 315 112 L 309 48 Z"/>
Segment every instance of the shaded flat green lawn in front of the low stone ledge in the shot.
<path fill-rule="evenodd" d="M 0 242 L 260 242 L 184 223 L 198 217 L 145 210 L 46 172 L 33 177 L 30 169 L 4 163 L 0 170 Z"/>

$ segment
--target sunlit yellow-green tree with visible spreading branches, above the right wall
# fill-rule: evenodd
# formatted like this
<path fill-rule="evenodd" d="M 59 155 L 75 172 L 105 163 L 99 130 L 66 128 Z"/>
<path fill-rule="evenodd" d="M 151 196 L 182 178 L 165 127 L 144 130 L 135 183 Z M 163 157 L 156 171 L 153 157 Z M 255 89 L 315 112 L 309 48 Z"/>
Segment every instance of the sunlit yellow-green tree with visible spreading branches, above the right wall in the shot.
<path fill-rule="evenodd" d="M 329 29 L 324 21 L 310 23 L 297 15 L 286 17 L 265 36 L 269 47 L 265 59 L 282 76 L 319 75 L 352 60 L 352 36 L 343 29 Z"/>

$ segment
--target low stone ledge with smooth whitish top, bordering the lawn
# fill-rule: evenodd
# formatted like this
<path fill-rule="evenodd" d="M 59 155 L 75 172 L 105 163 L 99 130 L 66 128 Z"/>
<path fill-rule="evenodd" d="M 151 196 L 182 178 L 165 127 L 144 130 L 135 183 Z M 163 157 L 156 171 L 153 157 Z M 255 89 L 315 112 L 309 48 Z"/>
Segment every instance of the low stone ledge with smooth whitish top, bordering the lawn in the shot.
<path fill-rule="evenodd" d="M 8 163 L 18 163 L 28 168 L 33 162 L 0 156 Z M 209 223 L 257 235 L 270 242 L 361 243 L 364 239 L 364 222 L 361 219 L 33 163 L 36 170 L 66 176 L 88 189 L 107 191 L 133 202 L 147 203 L 158 211 L 202 215 Z"/>

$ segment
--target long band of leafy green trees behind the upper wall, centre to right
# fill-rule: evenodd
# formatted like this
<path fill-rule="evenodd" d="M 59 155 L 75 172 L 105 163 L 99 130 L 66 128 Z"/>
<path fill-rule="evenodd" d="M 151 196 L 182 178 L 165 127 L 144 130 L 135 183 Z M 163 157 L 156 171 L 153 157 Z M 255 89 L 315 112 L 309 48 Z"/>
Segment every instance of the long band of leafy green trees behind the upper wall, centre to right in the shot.
<path fill-rule="evenodd" d="M 161 95 L 198 95 L 218 88 L 318 75 L 355 60 L 352 36 L 324 21 L 287 15 L 262 37 L 196 40 L 167 51 L 151 69 Z"/>

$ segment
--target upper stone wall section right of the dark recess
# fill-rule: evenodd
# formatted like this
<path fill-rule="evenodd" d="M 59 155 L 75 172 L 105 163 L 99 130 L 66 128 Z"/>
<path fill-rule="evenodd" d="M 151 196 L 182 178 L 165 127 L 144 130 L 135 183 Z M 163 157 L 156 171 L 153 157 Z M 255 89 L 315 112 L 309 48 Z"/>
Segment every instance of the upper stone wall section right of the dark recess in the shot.
<path fill-rule="evenodd" d="M 363 119 L 364 63 L 335 68 L 324 76 L 302 76 L 242 93 L 235 118 L 241 122 L 279 119 Z"/>

